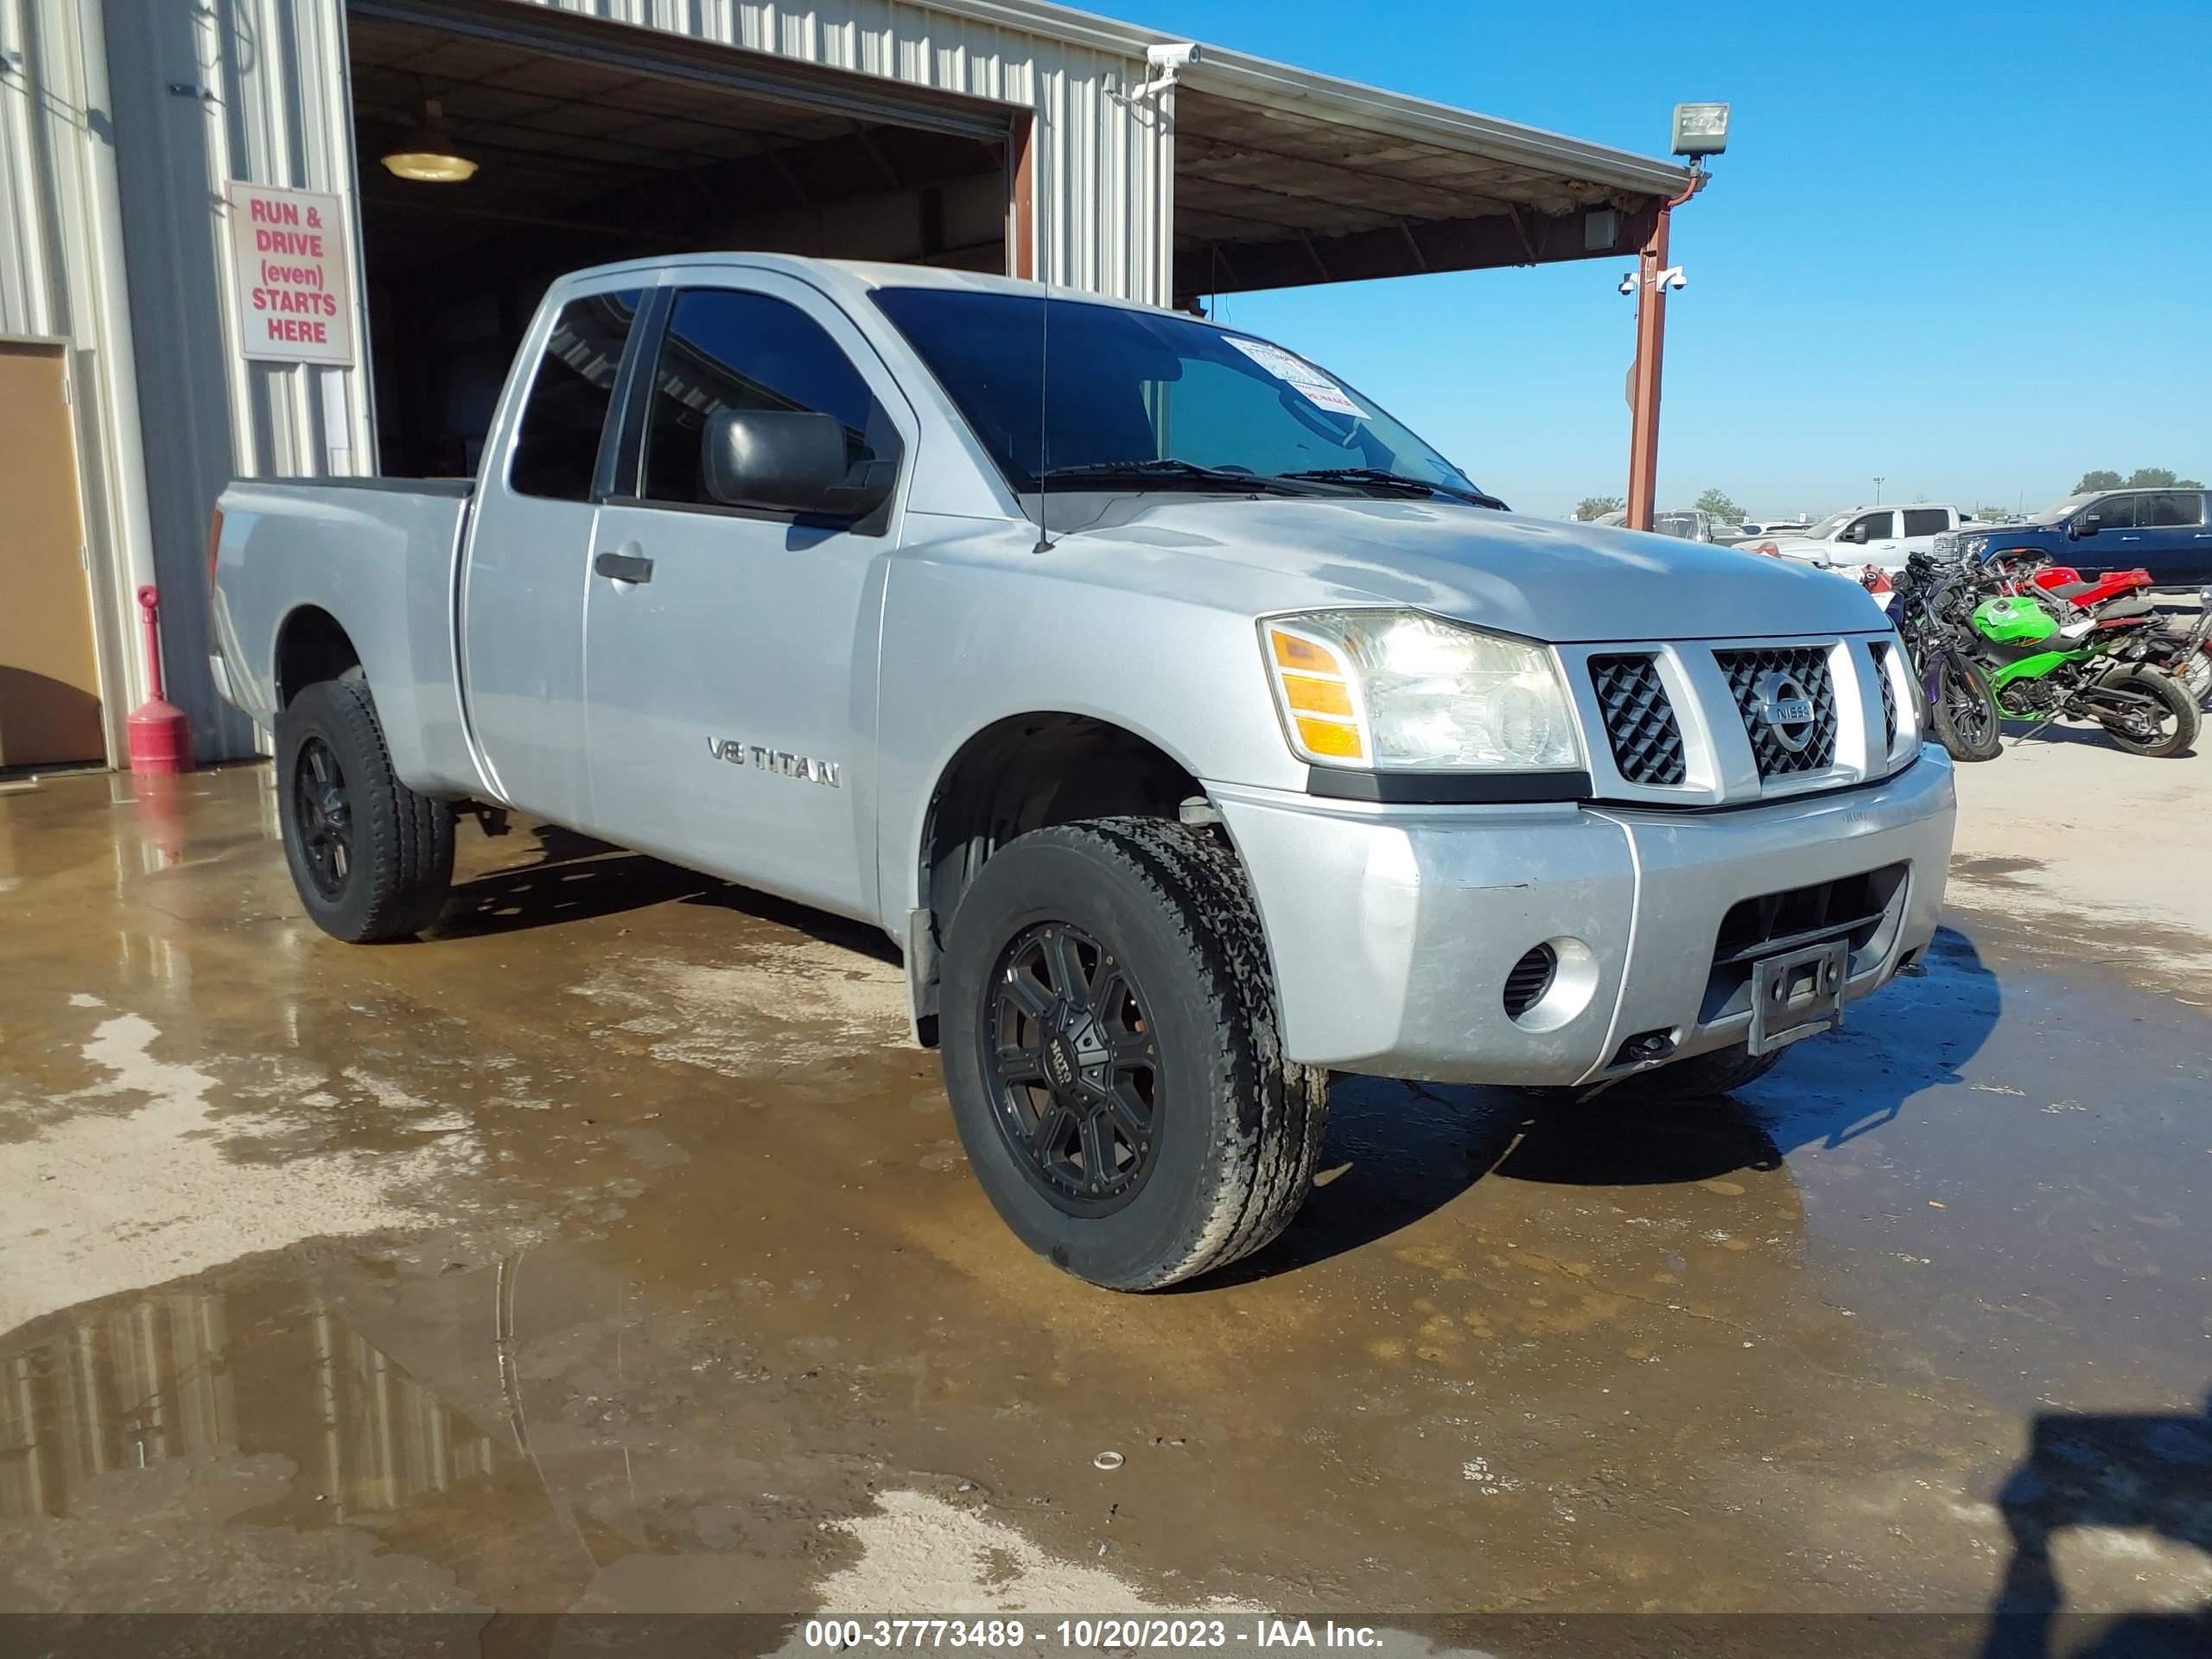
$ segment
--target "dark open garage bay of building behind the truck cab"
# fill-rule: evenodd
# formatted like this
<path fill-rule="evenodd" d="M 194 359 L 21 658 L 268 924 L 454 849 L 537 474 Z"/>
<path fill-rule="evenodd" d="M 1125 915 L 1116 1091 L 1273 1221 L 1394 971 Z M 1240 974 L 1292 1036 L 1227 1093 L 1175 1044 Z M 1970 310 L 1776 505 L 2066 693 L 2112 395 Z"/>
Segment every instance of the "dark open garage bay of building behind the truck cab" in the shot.
<path fill-rule="evenodd" d="M 476 471 L 538 296 L 580 265 L 741 248 L 1009 270 L 1024 113 L 513 11 L 347 15 L 378 471 Z M 422 146 L 473 175 L 383 164 Z"/>

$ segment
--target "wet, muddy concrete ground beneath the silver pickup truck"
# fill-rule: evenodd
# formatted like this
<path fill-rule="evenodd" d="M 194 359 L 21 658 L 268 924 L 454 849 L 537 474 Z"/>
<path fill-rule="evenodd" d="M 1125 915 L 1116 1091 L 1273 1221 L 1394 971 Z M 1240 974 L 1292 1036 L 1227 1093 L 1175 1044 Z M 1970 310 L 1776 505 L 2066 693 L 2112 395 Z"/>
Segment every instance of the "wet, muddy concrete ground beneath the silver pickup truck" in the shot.
<path fill-rule="evenodd" d="M 341 947 L 272 834 L 0 794 L 0 1608 L 2212 1601 L 2208 1022 L 2095 916 L 1958 909 L 1736 1104 L 1347 1079 L 1292 1232 L 1128 1298 L 865 931 L 465 830 Z"/>

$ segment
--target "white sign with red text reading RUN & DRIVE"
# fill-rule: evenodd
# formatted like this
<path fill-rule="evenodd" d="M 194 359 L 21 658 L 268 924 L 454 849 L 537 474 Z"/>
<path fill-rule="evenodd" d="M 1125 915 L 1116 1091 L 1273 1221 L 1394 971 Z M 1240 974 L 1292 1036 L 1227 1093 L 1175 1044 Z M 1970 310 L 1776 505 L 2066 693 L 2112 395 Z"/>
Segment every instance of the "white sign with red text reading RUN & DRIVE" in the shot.
<path fill-rule="evenodd" d="M 230 184 L 241 352 L 263 363 L 354 361 L 347 217 L 338 197 Z"/>

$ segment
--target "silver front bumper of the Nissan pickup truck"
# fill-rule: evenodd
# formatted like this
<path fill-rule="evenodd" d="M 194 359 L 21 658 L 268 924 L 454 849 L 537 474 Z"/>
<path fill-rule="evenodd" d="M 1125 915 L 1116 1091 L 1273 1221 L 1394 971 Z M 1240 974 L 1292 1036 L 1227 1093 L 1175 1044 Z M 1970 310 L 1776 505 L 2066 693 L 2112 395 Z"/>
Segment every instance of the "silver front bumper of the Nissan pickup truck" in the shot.
<path fill-rule="evenodd" d="M 1750 1011 L 1717 967 L 1739 900 L 1893 872 L 1845 998 L 1876 991 L 1936 933 L 1955 816 L 1933 745 L 1876 785 L 1725 812 L 1210 794 L 1259 900 L 1285 1057 L 1469 1084 L 1635 1071 L 1621 1044 L 1650 1033 L 1670 1060 L 1739 1044 Z M 1553 989 L 1515 1020 L 1506 975 L 1542 942 Z"/>

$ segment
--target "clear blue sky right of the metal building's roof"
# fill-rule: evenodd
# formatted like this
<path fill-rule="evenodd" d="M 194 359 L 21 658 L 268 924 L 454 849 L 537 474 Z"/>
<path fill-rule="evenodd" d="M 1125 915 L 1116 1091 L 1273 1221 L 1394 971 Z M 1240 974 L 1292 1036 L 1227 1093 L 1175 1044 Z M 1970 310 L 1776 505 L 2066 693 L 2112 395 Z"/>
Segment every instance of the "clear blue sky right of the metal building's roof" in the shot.
<path fill-rule="evenodd" d="M 2212 480 L 2212 0 L 1079 0 L 1659 155 L 1674 215 L 1659 504 L 2037 507 L 2088 467 Z M 1628 259 L 1228 296 L 1533 513 L 1626 487 Z"/>

